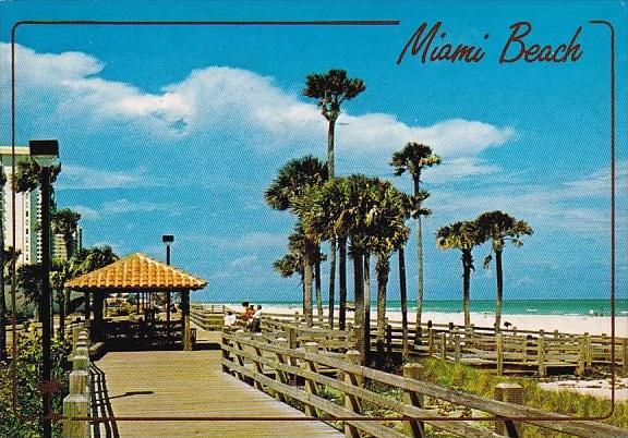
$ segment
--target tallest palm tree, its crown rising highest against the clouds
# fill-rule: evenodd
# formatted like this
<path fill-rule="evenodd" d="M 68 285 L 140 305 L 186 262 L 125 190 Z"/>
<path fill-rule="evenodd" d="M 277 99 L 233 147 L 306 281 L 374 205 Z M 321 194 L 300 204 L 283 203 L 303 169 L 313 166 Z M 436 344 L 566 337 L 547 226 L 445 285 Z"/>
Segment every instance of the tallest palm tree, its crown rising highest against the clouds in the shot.
<path fill-rule="evenodd" d="M 328 122 L 327 129 L 327 173 L 330 179 L 335 174 L 334 147 L 336 121 L 346 100 L 351 100 L 366 89 L 364 81 L 347 77 L 345 70 L 329 70 L 325 74 L 309 74 L 305 78 L 303 95 L 318 99 L 321 113 Z M 335 282 L 336 282 L 336 244 L 340 244 L 340 264 L 346 266 L 347 240 L 336 242 L 336 236 L 329 238 L 329 327 L 334 328 Z M 343 246 L 342 246 L 343 245 Z M 343 257 L 343 258 L 342 258 Z M 346 278 L 346 275 L 345 275 Z M 342 282 L 340 282 L 342 284 Z M 346 284 L 345 284 L 346 288 Z M 345 289 L 345 294 L 347 290 Z M 342 291 L 340 292 L 342 293 Z"/>

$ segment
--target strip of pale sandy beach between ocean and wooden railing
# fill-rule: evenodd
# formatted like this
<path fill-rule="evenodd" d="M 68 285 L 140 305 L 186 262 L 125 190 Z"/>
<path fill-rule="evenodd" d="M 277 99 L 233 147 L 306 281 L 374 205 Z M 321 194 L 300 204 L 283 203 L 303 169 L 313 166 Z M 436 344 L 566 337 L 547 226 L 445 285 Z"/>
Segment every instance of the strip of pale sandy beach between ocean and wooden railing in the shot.
<path fill-rule="evenodd" d="M 238 308 L 238 307 L 235 307 Z M 294 314 L 294 312 L 301 312 L 299 305 L 294 306 L 264 306 L 264 311 L 268 313 L 281 313 L 281 314 Z M 314 309 L 316 312 L 316 309 Z M 324 309 L 324 314 L 327 315 L 327 308 Z M 350 313 L 349 315 L 352 315 Z M 371 309 L 372 318 L 376 317 L 376 312 Z M 386 316 L 390 320 L 401 320 L 400 312 L 387 312 Z M 413 321 L 415 314 L 410 312 L 408 314 L 408 319 Z M 448 324 L 454 323 L 456 325 L 463 325 L 464 315 L 462 313 L 438 313 L 438 312 L 425 312 L 423 313 L 424 321 L 432 320 L 434 324 Z M 471 324 L 476 327 L 492 327 L 495 320 L 495 315 L 492 314 L 471 314 Z M 590 333 L 590 334 L 602 334 L 606 333 L 611 336 L 611 323 L 612 318 L 609 316 L 585 316 L 585 315 L 503 315 L 502 324 L 510 323 L 512 327 L 517 327 L 519 330 L 545 330 L 546 332 L 552 332 L 558 330 L 565 333 Z M 628 337 L 628 318 L 627 317 L 616 317 L 615 318 L 615 334 L 617 337 Z"/>

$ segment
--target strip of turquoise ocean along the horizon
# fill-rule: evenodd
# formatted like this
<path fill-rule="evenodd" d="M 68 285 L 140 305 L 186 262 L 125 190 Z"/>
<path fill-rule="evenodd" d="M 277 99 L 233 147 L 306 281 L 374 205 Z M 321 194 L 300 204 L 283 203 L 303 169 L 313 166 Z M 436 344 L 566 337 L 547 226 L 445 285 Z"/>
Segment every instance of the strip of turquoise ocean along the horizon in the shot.
<path fill-rule="evenodd" d="M 224 302 L 222 302 L 224 303 Z M 232 304 L 238 308 L 238 303 Z M 268 306 L 300 307 L 301 302 L 288 301 L 261 301 L 254 304 L 266 304 Z M 324 305 L 327 303 L 325 302 Z M 408 303 L 408 311 L 416 309 L 414 302 Z M 376 302 L 371 302 L 371 309 L 375 309 Z M 399 301 L 390 300 L 387 302 L 388 311 L 401 311 Z M 461 313 L 462 300 L 435 300 L 423 303 L 423 312 L 439 313 Z M 472 313 L 495 313 L 495 301 L 493 300 L 472 300 Z M 611 300 L 505 300 L 502 313 L 504 315 L 611 315 Z M 628 317 L 628 300 L 621 299 L 615 301 L 615 315 L 618 317 Z"/>

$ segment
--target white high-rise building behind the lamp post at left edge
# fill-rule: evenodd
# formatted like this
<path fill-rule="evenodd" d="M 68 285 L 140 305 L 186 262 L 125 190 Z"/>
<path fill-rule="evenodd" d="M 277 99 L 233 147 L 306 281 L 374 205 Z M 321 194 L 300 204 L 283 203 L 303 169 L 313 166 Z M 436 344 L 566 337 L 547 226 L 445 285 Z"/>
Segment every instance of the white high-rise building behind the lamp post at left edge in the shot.
<path fill-rule="evenodd" d="M 27 146 L 15 146 L 15 166 L 20 161 L 29 160 Z M 13 197 L 12 197 L 12 155 L 11 146 L 0 146 L 0 163 L 7 175 L 7 184 L 2 193 L 2 226 L 4 228 L 5 247 L 13 245 Z M 15 167 L 15 169 L 17 169 Z M 21 252 L 17 264 L 34 264 L 41 261 L 41 242 L 38 223 L 41 216 L 41 198 L 39 191 L 15 193 L 15 248 Z"/>

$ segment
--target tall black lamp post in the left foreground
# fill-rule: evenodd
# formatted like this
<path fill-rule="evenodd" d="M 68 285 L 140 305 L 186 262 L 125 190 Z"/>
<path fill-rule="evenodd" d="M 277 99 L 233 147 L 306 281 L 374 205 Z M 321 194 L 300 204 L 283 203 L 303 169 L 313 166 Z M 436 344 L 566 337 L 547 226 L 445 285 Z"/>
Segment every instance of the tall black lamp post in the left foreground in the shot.
<path fill-rule="evenodd" d="M 32 139 L 28 144 L 31 157 L 39 166 L 41 187 L 41 402 L 44 407 L 43 437 L 52 436 L 50 393 L 50 168 L 59 160 L 59 142 L 56 139 Z"/>

